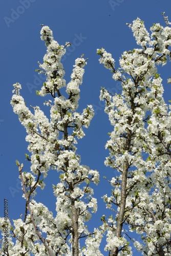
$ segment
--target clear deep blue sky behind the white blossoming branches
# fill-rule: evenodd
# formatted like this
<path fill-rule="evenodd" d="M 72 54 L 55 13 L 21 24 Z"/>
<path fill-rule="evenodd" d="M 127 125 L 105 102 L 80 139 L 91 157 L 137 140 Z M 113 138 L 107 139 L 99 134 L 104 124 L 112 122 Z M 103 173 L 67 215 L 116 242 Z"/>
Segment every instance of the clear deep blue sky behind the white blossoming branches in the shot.
<path fill-rule="evenodd" d="M 118 67 L 118 59 L 125 50 L 136 47 L 131 29 L 125 24 L 132 23 L 139 17 L 149 29 L 153 23 L 164 25 L 162 12 L 171 20 L 170 0 L 5 0 L 0 3 L 1 26 L 1 100 L 0 100 L 0 216 L 3 217 L 4 198 L 9 202 L 10 219 L 19 218 L 24 213 L 25 201 L 18 179 L 18 170 L 15 160 L 24 163 L 24 170 L 29 170 L 25 161 L 27 143 L 26 132 L 19 123 L 17 115 L 12 111 L 10 100 L 13 83 L 22 84 L 21 94 L 26 104 L 43 106 L 44 99 L 36 96 L 35 91 L 41 88 L 45 77 L 39 77 L 35 72 L 38 69 L 37 61 L 42 63 L 46 47 L 40 40 L 40 24 L 49 26 L 54 38 L 59 44 L 71 42 L 72 47 L 67 50 L 62 63 L 66 70 L 66 80 L 70 80 L 74 61 L 81 54 L 88 59 L 85 68 L 80 94 L 80 111 L 92 104 L 95 116 L 86 137 L 78 141 L 78 154 L 82 164 L 97 169 L 100 173 L 100 183 L 95 187 L 95 197 L 98 198 L 98 213 L 92 217 L 90 225 L 101 225 L 100 217 L 105 214 L 105 204 L 101 197 L 109 194 L 111 187 L 103 179 L 109 179 L 116 173 L 103 162 L 109 152 L 104 149 L 109 139 L 108 132 L 112 131 L 108 116 L 104 113 L 104 102 L 100 102 L 100 88 L 105 87 L 112 92 L 121 92 L 118 82 L 112 79 L 109 70 L 99 64 L 96 49 L 103 47 L 112 53 Z M 163 78 L 164 97 L 166 102 L 171 99 L 170 85 L 166 80 L 170 74 L 170 63 L 160 68 Z M 40 191 L 37 201 L 45 203 L 50 210 L 55 209 L 52 183 L 57 181 L 58 174 L 49 172 L 46 188 Z M 104 243 L 103 243 L 104 245 Z M 108 252 L 104 252 L 108 255 Z M 134 252 L 133 255 L 140 255 Z"/>

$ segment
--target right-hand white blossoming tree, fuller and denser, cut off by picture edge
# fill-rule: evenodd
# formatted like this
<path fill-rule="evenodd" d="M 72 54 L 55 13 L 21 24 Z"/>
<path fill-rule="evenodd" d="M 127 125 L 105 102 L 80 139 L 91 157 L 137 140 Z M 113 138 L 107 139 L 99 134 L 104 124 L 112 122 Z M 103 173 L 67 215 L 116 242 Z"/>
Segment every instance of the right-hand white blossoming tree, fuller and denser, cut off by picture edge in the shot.
<path fill-rule="evenodd" d="M 105 249 L 113 256 L 132 255 L 130 239 L 143 255 L 171 254 L 171 105 L 163 99 L 156 67 L 171 57 L 171 28 L 164 13 L 163 17 L 166 27 L 154 24 L 151 35 L 139 18 L 127 24 L 139 48 L 122 54 L 120 68 L 115 68 L 110 53 L 103 48 L 97 51 L 100 63 L 122 84 L 122 94 L 104 88 L 100 94 L 114 126 L 106 143 L 110 156 L 105 165 L 118 172 L 109 181 L 112 195 L 103 197 L 116 213 L 108 220 L 102 217 Z M 127 230 L 141 234 L 142 242 L 136 236 L 132 239 Z"/>

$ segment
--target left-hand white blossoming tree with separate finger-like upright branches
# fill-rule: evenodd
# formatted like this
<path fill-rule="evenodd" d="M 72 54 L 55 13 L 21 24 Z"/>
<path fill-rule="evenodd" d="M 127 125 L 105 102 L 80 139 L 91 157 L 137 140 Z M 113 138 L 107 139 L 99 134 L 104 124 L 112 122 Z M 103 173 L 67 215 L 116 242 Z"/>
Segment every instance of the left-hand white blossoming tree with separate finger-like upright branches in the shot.
<path fill-rule="evenodd" d="M 80 164 L 75 146 L 77 139 L 84 136 L 83 127 L 88 127 L 93 117 L 91 105 L 82 113 L 76 112 L 79 86 L 87 62 L 83 56 L 76 59 L 71 81 L 66 84 L 60 60 L 69 42 L 59 46 L 50 28 L 43 25 L 41 39 L 45 41 L 47 53 L 37 71 L 45 73 L 47 80 L 37 94 L 51 96 L 52 100 L 45 101 L 45 105 L 50 108 L 50 120 L 38 106 L 32 107 L 33 114 L 20 96 L 22 87 L 19 83 L 14 84 L 11 104 L 28 134 L 26 141 L 29 142 L 31 156 L 26 155 L 26 158 L 31 163 L 31 172 L 22 172 L 23 164 L 16 161 L 26 208 L 24 218 L 14 220 L 14 224 L 9 226 L 11 237 L 8 250 L 2 247 L 1 255 L 80 255 L 82 252 L 88 255 L 90 249 L 100 255 L 98 243 L 101 234 L 98 230 L 90 233 L 85 225 L 91 218 L 90 211 L 97 210 L 97 200 L 92 196 L 90 184 L 99 182 L 99 174 Z M 65 97 L 62 92 L 68 96 Z M 44 189 L 49 169 L 55 169 L 60 174 L 60 182 L 53 186 L 56 217 L 45 205 L 34 200 L 36 188 Z M 87 246 L 81 249 L 79 240 L 90 237 L 90 234 L 91 240 L 95 233 L 96 237 L 99 233 L 99 239 L 96 239 L 94 248 L 90 248 L 87 239 Z"/>

